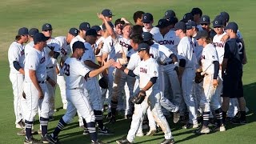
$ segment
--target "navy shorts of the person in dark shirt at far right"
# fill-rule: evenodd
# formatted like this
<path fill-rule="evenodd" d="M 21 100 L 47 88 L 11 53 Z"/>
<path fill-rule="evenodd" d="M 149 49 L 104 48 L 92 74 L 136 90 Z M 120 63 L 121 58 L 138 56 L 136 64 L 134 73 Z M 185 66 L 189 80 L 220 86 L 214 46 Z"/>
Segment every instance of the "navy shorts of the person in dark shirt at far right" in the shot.
<path fill-rule="evenodd" d="M 222 97 L 241 98 L 243 97 L 242 74 L 223 76 Z"/>

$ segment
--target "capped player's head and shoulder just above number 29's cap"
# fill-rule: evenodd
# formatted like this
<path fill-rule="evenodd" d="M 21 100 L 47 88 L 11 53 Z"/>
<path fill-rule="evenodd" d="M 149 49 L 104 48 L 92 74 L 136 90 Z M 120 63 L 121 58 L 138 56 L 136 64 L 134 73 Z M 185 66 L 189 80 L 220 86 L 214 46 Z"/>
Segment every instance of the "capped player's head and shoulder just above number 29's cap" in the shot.
<path fill-rule="evenodd" d="M 73 43 L 74 42 L 77 42 L 77 41 L 81 41 L 81 42 L 86 42 L 85 41 L 85 38 L 86 38 L 86 30 L 89 30 L 90 29 L 90 23 L 88 22 L 82 22 L 80 25 L 79 25 L 79 32 L 78 32 L 78 35 L 76 37 L 74 37 L 71 42 L 70 42 L 70 48 L 72 50 L 72 46 L 73 46 Z"/>

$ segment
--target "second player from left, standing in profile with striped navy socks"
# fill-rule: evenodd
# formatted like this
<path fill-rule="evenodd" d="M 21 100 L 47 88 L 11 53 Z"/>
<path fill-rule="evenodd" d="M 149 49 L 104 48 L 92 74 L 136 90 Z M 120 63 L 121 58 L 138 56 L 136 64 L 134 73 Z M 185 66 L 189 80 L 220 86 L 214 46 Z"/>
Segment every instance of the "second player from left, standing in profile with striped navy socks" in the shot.
<path fill-rule="evenodd" d="M 24 143 L 38 143 L 31 134 L 31 128 L 34 121 L 34 116 L 37 114 L 38 108 L 40 111 L 40 128 L 42 130 L 42 142 L 47 140 L 47 125 L 49 121 L 50 98 L 46 81 L 50 80 L 46 77 L 46 55 L 44 48 L 46 46 L 46 37 L 42 33 L 34 35 L 34 48 L 26 55 L 25 82 L 24 93 L 26 94 L 26 138 Z M 41 143 L 41 142 L 40 142 Z"/>

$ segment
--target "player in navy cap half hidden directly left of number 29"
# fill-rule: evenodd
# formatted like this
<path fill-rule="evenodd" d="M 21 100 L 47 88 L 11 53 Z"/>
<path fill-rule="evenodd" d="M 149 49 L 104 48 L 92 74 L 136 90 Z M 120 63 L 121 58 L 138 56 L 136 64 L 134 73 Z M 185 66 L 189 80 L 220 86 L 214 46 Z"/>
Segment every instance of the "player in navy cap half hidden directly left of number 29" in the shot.
<path fill-rule="evenodd" d="M 66 36 L 58 36 L 55 38 L 58 40 L 61 46 L 60 62 L 57 64 L 58 70 L 59 70 L 59 74 L 57 74 L 57 83 L 61 92 L 62 104 L 63 104 L 64 110 L 66 110 L 67 108 L 67 101 L 66 101 L 66 82 L 62 72 L 62 66 L 63 66 L 63 63 L 66 61 L 66 58 L 69 58 L 71 54 L 70 42 L 77 35 L 78 35 L 78 30 L 76 28 L 70 28 Z"/>

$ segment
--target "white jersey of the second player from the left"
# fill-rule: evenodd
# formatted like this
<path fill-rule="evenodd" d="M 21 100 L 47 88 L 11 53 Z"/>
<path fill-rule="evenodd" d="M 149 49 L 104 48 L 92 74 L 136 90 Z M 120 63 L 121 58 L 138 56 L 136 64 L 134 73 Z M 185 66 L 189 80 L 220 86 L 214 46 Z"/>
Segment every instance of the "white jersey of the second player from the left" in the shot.
<path fill-rule="evenodd" d="M 36 70 L 38 81 L 46 81 L 46 55 L 43 50 L 31 49 L 26 55 L 25 61 L 25 82 L 32 82 L 29 70 Z"/>

